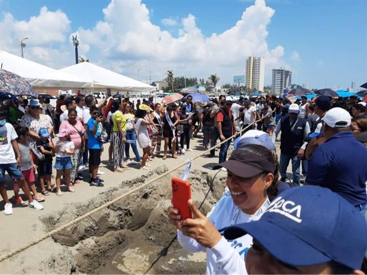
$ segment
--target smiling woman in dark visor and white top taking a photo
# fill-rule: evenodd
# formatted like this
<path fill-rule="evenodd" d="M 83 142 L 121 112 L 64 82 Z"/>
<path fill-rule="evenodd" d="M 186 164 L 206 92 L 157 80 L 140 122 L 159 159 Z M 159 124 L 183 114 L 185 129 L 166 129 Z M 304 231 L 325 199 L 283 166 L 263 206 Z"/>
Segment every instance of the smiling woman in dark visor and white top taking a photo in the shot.
<path fill-rule="evenodd" d="M 278 161 L 271 150 L 248 144 L 233 150 L 228 161 L 213 167 L 227 169 L 230 196 L 222 197 L 204 216 L 192 200 L 188 206 L 193 219 L 181 220 L 179 210 L 168 208 L 169 222 L 177 229 L 178 241 L 188 252 L 206 250 L 206 274 L 243 273 L 252 237 L 225 239 L 226 227 L 258 220 L 278 192 Z M 228 256 L 230 255 L 230 256 Z"/>

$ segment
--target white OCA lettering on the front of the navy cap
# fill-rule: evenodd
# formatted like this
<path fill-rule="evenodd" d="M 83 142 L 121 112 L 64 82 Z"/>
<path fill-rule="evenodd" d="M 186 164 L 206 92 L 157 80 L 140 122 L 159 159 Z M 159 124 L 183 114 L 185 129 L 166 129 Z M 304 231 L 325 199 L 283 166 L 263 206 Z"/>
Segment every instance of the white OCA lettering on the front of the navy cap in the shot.
<path fill-rule="evenodd" d="M 275 212 L 297 223 L 301 223 L 301 206 L 292 201 L 286 201 L 282 197 L 275 199 L 265 212 Z"/>

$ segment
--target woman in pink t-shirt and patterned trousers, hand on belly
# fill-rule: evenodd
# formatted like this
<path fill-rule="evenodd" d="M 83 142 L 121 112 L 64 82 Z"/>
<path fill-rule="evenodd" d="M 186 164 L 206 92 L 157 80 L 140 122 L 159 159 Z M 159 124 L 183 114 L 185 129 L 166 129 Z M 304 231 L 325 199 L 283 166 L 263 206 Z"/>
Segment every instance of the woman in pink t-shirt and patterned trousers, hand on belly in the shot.
<path fill-rule="evenodd" d="M 82 153 L 85 151 L 85 137 L 83 124 L 76 119 L 77 113 L 75 109 L 68 110 L 68 119 L 64 120 L 60 124 L 59 133 L 61 130 L 66 129 L 69 132 L 70 140 L 74 142 L 74 154 L 71 155 L 72 167 L 70 169 L 70 182 L 72 184 L 79 183 L 78 179 L 78 167 Z"/>

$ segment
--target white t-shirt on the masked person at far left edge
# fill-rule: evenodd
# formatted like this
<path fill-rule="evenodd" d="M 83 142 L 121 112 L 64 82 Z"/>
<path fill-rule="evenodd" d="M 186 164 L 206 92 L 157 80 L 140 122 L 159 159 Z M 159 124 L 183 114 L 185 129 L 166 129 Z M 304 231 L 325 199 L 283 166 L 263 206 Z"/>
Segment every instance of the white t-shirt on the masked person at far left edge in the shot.
<path fill-rule="evenodd" d="M 11 141 L 18 138 L 13 125 L 5 123 L 0 127 L 0 163 L 17 162 Z"/>

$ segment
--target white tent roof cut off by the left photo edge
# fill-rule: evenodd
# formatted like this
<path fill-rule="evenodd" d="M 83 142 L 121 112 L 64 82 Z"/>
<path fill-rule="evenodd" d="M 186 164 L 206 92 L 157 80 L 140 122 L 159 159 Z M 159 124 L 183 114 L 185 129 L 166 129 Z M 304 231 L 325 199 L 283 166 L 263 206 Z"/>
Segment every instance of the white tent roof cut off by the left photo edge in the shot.
<path fill-rule="evenodd" d="M 36 62 L 0 51 L 2 69 L 22 76 L 35 89 L 80 89 L 92 87 L 92 83 Z"/>

